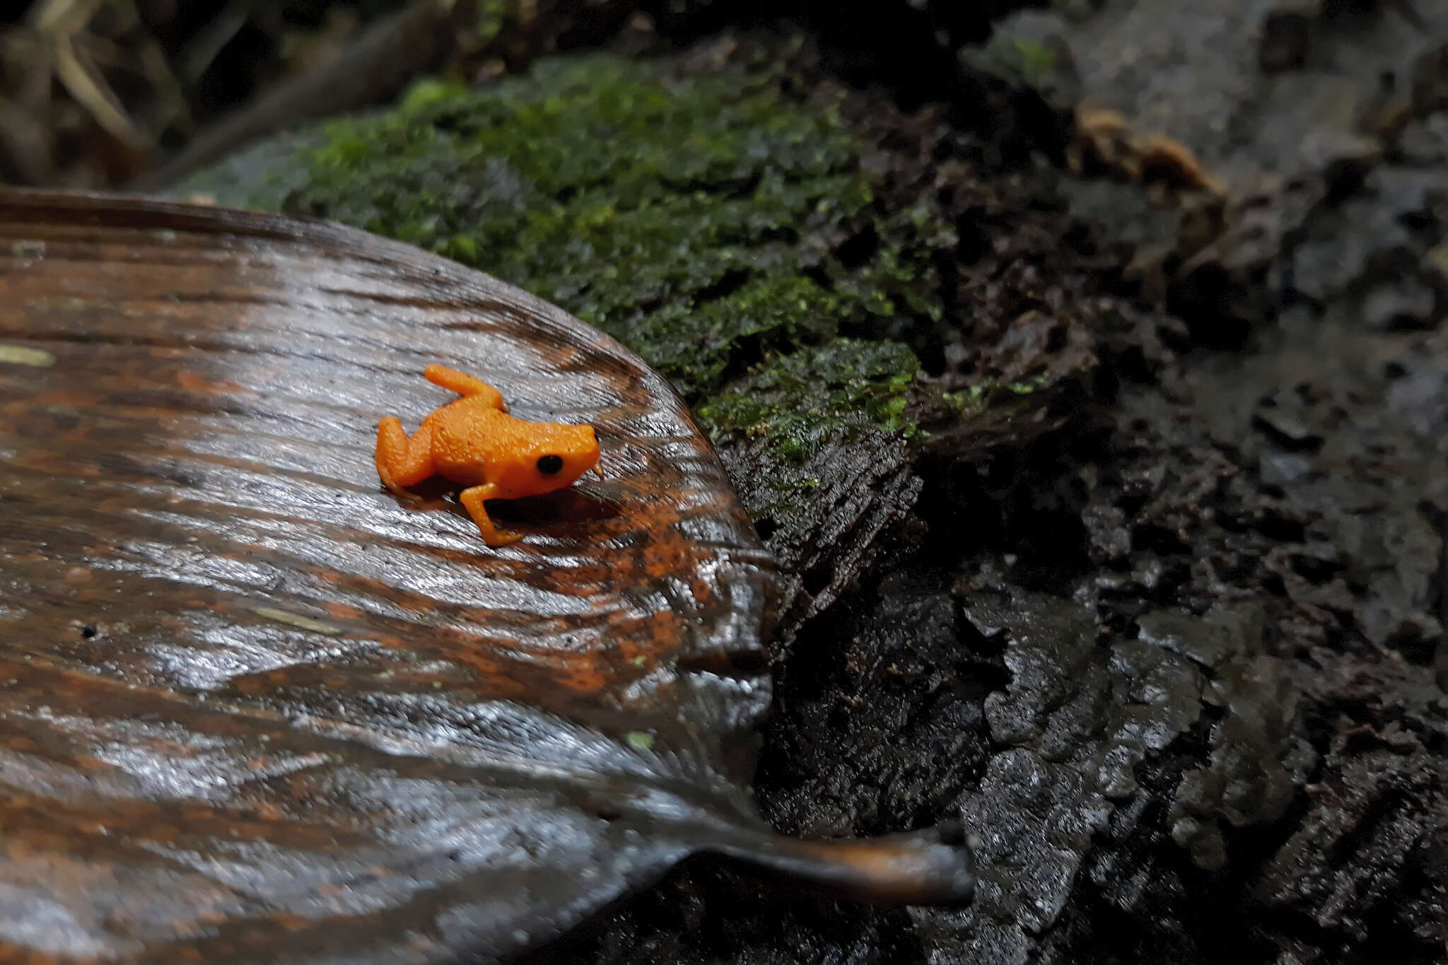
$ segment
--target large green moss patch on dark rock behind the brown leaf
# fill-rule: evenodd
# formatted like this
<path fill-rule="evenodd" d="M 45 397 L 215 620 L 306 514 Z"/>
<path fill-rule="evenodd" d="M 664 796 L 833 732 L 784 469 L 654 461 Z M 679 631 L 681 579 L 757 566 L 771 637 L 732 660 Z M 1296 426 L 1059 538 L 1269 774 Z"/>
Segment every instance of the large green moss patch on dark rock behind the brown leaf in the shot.
<path fill-rule="evenodd" d="M 875 146 L 841 119 L 844 94 L 780 91 L 767 67 L 675 77 L 607 55 L 485 88 L 427 81 L 300 137 L 281 207 L 562 305 L 663 372 L 715 433 L 798 459 L 850 425 L 905 431 L 917 363 L 902 341 L 941 317 L 934 256 L 954 227 L 933 203 L 876 198 L 862 165 Z M 226 200 L 266 204 L 262 184 Z"/>

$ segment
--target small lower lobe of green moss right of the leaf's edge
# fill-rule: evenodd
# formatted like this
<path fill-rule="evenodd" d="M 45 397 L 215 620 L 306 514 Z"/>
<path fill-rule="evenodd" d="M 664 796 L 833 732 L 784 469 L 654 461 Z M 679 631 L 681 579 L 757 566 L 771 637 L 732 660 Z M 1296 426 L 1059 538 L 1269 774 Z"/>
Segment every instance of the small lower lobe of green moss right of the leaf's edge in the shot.
<path fill-rule="evenodd" d="M 834 433 L 911 431 L 904 411 L 918 369 L 899 343 L 837 339 L 766 360 L 705 402 L 699 417 L 715 431 L 763 434 L 785 459 L 802 463 Z"/>

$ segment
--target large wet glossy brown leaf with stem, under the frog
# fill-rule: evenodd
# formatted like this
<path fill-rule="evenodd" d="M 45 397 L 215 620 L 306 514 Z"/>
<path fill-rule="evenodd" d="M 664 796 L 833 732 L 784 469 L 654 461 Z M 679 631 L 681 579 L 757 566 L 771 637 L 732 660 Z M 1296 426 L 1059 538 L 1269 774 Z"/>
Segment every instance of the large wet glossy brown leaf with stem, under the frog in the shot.
<path fill-rule="evenodd" d="M 449 394 L 591 422 L 605 479 L 379 485 Z M 959 900 L 959 830 L 773 836 L 773 564 L 672 389 L 485 275 L 336 226 L 0 194 L 0 961 L 536 948 L 712 851 Z"/>

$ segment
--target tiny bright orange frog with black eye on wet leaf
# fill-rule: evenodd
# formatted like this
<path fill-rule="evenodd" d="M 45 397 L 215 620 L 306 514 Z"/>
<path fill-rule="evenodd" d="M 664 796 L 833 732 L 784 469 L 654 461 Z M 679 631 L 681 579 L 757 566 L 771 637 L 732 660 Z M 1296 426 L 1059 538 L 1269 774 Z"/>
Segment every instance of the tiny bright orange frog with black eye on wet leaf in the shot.
<path fill-rule="evenodd" d="M 566 489 L 598 470 L 598 438 L 592 425 L 529 422 L 508 415 L 495 388 L 446 366 L 430 365 L 423 376 L 460 399 L 433 409 L 411 437 L 388 415 L 376 427 L 376 475 L 400 496 L 430 476 L 462 483 L 459 493 L 484 543 L 502 547 L 523 538 L 492 525 L 484 502 L 518 499 Z"/>

